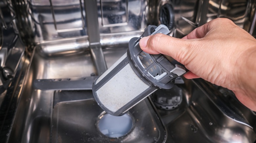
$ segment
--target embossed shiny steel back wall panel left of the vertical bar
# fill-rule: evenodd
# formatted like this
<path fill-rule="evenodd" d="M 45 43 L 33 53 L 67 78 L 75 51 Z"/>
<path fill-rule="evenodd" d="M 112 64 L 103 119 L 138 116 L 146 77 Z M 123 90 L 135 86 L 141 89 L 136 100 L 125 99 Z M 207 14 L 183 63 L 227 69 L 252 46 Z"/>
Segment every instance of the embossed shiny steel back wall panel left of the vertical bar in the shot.
<path fill-rule="evenodd" d="M 87 35 L 83 1 L 30 0 L 27 7 L 35 24 L 34 43 Z"/>

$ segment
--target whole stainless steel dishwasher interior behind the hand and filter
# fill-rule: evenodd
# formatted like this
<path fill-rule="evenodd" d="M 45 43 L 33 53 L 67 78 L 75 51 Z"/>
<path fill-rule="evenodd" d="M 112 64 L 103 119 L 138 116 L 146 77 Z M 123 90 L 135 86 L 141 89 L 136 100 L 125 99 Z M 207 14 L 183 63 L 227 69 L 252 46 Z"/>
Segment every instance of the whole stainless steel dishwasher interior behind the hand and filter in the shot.
<path fill-rule="evenodd" d="M 97 105 L 92 84 L 149 24 L 182 38 L 226 17 L 255 35 L 255 6 L 254 0 L 1 1 L 0 142 L 254 143 L 256 113 L 203 79 L 178 78 L 174 88 L 157 90 L 117 118 Z"/>

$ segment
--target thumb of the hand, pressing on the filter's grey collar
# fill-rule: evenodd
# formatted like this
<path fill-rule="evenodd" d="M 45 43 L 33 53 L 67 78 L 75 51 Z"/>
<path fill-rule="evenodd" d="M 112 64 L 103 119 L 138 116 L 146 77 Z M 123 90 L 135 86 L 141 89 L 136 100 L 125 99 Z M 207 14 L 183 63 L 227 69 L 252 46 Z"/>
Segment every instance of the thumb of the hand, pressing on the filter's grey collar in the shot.
<path fill-rule="evenodd" d="M 164 54 L 171 56 L 183 65 L 187 64 L 191 54 L 191 40 L 174 38 L 164 34 L 143 37 L 139 41 L 141 50 L 149 54 Z M 193 57 L 190 57 L 193 58 Z"/>

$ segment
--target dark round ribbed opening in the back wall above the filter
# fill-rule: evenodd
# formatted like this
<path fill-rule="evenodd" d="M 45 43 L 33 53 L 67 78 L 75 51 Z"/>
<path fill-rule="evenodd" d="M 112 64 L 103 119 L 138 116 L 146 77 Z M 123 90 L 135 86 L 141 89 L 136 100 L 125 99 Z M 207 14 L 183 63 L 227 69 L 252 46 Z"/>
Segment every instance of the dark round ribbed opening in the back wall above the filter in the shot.
<path fill-rule="evenodd" d="M 172 29 L 174 24 L 174 11 L 171 4 L 164 4 L 159 11 L 159 20 L 161 24 Z"/>

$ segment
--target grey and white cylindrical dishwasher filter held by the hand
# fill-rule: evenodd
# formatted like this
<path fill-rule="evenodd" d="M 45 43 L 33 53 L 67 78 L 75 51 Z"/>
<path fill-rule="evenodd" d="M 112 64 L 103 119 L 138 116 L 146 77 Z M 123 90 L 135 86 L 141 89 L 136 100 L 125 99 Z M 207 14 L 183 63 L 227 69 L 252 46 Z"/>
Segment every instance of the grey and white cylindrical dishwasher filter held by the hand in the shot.
<path fill-rule="evenodd" d="M 93 94 L 104 111 L 123 115 L 157 89 L 172 88 L 174 79 L 186 72 L 177 61 L 145 53 L 139 47 L 142 37 L 169 32 L 165 25 L 149 25 L 139 38 L 129 41 L 127 52 L 95 80 Z"/>

